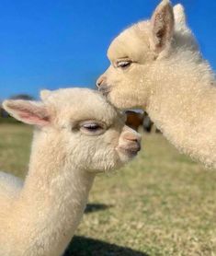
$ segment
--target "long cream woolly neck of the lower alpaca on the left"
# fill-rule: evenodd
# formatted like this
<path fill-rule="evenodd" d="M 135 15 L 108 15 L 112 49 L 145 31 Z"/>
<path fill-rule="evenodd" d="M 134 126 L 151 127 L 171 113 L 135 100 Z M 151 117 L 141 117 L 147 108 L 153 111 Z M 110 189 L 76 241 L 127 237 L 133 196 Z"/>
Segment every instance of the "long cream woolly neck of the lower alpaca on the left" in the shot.
<path fill-rule="evenodd" d="M 32 146 L 28 177 L 17 205 L 17 228 L 28 227 L 25 239 L 35 241 L 31 247 L 27 242 L 27 251 L 40 245 L 43 251 L 37 255 L 55 256 L 74 235 L 95 175 L 75 167 L 66 159 L 61 142 L 44 135 L 36 134 Z"/>

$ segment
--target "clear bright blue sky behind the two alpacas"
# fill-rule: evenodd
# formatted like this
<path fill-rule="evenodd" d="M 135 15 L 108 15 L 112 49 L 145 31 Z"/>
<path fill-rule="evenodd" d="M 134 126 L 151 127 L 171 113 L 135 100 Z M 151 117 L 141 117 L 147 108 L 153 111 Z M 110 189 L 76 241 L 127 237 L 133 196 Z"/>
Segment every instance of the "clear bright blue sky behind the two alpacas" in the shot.
<path fill-rule="evenodd" d="M 110 41 L 159 0 L 0 0 L 0 99 L 40 88 L 95 87 Z M 216 70 L 216 1 L 180 0 Z"/>

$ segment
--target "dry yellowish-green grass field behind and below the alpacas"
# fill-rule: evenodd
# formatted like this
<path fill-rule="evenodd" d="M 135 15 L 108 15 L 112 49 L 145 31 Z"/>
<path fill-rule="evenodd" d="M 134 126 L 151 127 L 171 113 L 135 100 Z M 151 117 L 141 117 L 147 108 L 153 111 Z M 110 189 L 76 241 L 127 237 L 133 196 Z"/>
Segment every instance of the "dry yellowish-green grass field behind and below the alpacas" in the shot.
<path fill-rule="evenodd" d="M 0 125 L 0 169 L 24 177 L 31 129 Z M 97 177 L 65 255 L 216 255 L 216 171 L 143 134 L 127 167 Z"/>

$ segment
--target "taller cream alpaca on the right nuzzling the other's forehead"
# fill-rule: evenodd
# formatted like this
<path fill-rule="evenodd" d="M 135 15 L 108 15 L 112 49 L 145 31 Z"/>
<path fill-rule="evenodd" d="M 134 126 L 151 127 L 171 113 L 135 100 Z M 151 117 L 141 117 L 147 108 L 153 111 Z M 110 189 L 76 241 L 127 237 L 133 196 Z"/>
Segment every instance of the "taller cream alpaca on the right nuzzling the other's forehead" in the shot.
<path fill-rule="evenodd" d="M 176 24 L 175 24 L 176 21 Z M 216 168 L 216 83 L 187 28 L 182 6 L 163 1 L 151 20 L 108 49 L 97 87 L 119 109 L 142 108 L 182 152 Z"/>

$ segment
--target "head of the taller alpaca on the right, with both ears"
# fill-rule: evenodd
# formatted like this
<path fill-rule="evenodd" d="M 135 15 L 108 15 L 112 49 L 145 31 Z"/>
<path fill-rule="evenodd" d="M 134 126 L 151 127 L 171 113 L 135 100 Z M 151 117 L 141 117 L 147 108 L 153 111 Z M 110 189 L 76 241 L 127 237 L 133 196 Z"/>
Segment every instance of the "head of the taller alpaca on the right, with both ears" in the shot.
<path fill-rule="evenodd" d="M 110 66 L 97 79 L 97 87 L 119 109 L 145 107 L 159 64 L 194 51 L 197 43 L 186 25 L 183 6 L 173 7 L 164 0 L 150 20 L 131 26 L 111 42 Z"/>

